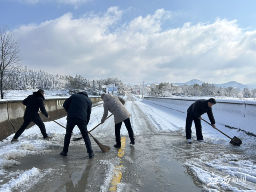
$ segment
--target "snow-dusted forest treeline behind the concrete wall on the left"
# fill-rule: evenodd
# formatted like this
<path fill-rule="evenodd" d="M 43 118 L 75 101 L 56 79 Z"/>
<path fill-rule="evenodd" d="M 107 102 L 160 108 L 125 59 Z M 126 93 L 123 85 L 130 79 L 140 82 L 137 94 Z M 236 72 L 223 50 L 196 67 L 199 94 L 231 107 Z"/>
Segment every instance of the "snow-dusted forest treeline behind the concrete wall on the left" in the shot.
<path fill-rule="evenodd" d="M 8 70 L 14 71 L 12 68 Z M 57 90 L 65 89 L 70 92 L 77 90 L 86 90 L 88 94 L 98 95 L 98 91 L 103 85 L 115 84 L 118 87 L 122 86 L 122 81 L 118 77 L 88 80 L 81 75 L 63 76 L 58 74 L 50 74 L 43 70 L 33 70 L 28 67 L 19 68 L 15 70 L 11 76 L 6 80 L 5 90 Z"/>

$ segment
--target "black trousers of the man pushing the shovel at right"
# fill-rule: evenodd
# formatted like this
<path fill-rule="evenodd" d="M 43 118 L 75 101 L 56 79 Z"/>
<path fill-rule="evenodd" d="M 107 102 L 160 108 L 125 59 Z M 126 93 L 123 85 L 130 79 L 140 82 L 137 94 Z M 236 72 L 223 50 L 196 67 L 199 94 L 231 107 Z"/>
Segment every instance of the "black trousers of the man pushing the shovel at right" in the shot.
<path fill-rule="evenodd" d="M 197 140 L 203 140 L 201 120 L 194 115 L 187 114 L 186 118 L 186 138 L 191 139 L 192 136 L 192 122 L 194 121 L 196 127 Z"/>

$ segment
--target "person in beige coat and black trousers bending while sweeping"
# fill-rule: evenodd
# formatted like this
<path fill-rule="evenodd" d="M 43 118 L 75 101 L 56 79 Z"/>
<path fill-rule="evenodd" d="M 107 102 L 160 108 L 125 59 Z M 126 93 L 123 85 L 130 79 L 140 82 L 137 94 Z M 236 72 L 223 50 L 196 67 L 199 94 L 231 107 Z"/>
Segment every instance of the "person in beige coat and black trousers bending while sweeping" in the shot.
<path fill-rule="evenodd" d="M 126 129 L 128 131 L 129 137 L 130 137 L 130 144 L 135 144 L 134 134 L 132 130 L 132 125 L 130 122 L 130 112 L 125 108 L 125 100 L 118 96 L 113 96 L 112 94 L 106 94 L 103 93 L 101 95 L 101 99 L 103 100 L 104 104 L 104 114 L 101 119 L 101 124 L 105 122 L 108 111 L 112 114 L 114 114 L 114 120 L 115 120 L 115 134 L 116 134 L 116 144 L 114 144 L 114 147 L 120 148 L 121 147 L 121 136 L 120 136 L 120 130 L 122 126 L 122 122 L 124 122 Z"/>

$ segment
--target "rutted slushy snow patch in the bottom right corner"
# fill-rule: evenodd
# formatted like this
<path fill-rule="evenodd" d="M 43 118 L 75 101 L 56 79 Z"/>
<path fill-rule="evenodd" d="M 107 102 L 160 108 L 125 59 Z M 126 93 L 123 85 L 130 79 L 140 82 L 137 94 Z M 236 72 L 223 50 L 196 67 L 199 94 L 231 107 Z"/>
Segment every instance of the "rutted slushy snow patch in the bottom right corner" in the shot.
<path fill-rule="evenodd" d="M 209 160 L 214 156 L 214 160 Z M 204 190 L 232 190 L 247 192 L 256 190 L 255 160 L 244 160 L 237 154 L 202 154 L 202 157 L 186 160 L 183 164 L 204 184 Z M 234 186 L 235 185 L 235 186 Z M 239 190 L 236 186 L 244 188 Z"/>

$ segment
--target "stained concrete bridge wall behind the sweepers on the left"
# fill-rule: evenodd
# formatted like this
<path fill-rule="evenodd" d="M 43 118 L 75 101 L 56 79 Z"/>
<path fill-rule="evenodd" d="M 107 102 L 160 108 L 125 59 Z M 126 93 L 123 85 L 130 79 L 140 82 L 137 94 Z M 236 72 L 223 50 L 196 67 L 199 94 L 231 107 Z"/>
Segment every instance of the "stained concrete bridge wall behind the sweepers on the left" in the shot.
<path fill-rule="evenodd" d="M 66 111 L 62 107 L 64 101 L 67 98 L 46 98 L 44 100 L 44 106 L 48 112 L 50 118 L 56 120 L 67 115 Z M 101 104 L 100 97 L 91 97 L 92 106 Z M 23 124 L 23 116 L 26 106 L 22 104 L 23 100 L 0 100 L 0 140 L 15 133 Z M 43 114 L 39 113 L 43 122 L 51 121 Z M 28 128 L 34 126 L 31 122 Z"/>

